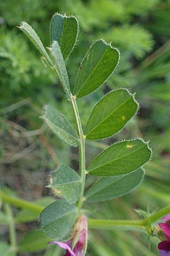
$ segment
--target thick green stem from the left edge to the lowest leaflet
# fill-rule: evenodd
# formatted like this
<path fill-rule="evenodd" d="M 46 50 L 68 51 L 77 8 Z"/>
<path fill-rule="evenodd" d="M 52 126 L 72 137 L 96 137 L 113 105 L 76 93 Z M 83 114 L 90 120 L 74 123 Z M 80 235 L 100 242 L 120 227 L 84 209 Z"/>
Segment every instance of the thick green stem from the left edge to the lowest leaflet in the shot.
<path fill-rule="evenodd" d="M 41 205 L 25 201 L 18 197 L 10 196 L 3 191 L 0 191 L 0 197 L 3 202 L 10 203 L 18 208 L 30 209 L 33 212 L 41 212 L 41 210 L 44 209 L 44 207 L 42 207 Z"/>

